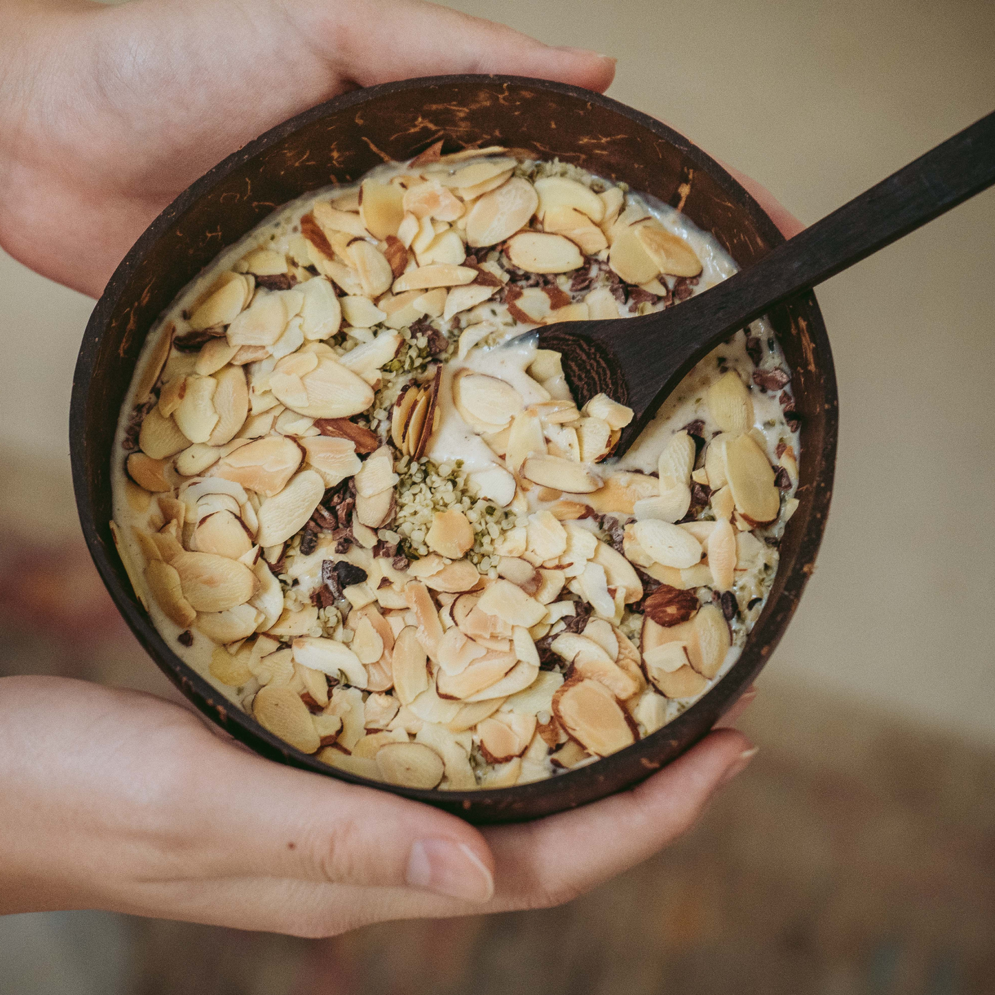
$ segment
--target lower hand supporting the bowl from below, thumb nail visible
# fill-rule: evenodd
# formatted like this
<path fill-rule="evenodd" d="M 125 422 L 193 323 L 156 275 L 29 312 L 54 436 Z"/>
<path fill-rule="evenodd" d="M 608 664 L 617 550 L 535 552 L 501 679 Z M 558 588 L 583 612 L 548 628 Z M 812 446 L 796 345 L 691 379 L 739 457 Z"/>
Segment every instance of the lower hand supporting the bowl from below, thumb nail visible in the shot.
<path fill-rule="evenodd" d="M 272 763 L 156 697 L 0 679 L 0 913 L 98 907 L 303 936 L 539 907 L 673 842 L 752 756 L 731 729 L 639 787 L 475 829 Z"/>

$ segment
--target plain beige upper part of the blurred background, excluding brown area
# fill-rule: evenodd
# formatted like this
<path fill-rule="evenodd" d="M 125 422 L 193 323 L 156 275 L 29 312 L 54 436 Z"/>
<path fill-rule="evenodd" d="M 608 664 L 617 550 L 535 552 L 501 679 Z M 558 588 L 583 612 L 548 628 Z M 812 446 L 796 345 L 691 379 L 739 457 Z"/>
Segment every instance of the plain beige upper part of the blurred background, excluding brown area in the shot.
<path fill-rule="evenodd" d="M 611 96 L 752 175 L 806 223 L 995 108 L 991 0 L 451 6 L 617 56 Z M 993 232 L 989 190 L 818 292 L 840 381 L 837 487 L 817 571 L 764 682 L 995 745 Z M 0 446 L 44 461 L 65 490 L 91 301 L 7 257 L 0 287 Z"/>

